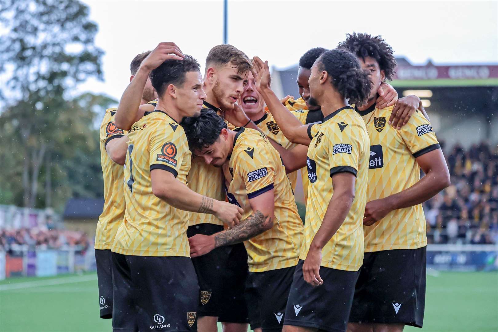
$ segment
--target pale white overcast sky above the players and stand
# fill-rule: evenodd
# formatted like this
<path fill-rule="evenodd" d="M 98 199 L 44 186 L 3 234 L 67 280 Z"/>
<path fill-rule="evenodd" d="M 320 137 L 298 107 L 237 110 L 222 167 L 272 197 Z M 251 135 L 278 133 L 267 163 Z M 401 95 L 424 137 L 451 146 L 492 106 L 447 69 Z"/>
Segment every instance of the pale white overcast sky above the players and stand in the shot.
<path fill-rule="evenodd" d="M 129 83 L 129 63 L 159 42 L 174 41 L 201 66 L 223 43 L 223 1 L 84 0 L 99 25 L 105 82 L 81 92 L 119 99 Z M 334 48 L 346 33 L 382 35 L 396 56 L 414 64 L 498 62 L 498 1 L 228 2 L 228 43 L 270 66 L 291 66 L 312 47 Z M 204 70 L 204 67 L 202 68 Z"/>

